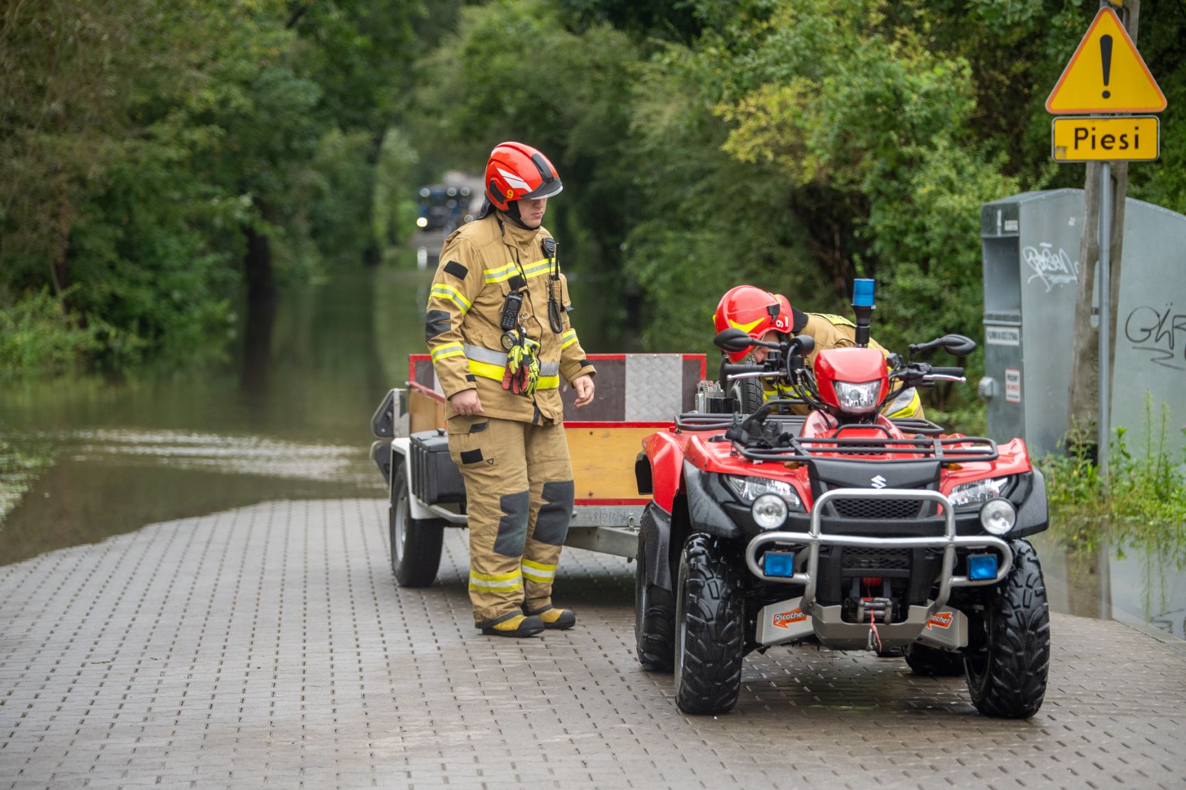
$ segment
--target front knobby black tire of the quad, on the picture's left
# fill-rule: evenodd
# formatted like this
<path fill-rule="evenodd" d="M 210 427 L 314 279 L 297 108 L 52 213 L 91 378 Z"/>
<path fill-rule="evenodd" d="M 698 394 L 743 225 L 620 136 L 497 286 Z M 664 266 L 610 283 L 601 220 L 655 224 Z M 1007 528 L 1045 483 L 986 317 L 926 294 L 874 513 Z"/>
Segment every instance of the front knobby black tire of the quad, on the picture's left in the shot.
<path fill-rule="evenodd" d="M 684 713 L 725 713 L 737 705 L 745 655 L 740 558 L 696 533 L 684 543 L 676 585 L 675 702 Z"/>

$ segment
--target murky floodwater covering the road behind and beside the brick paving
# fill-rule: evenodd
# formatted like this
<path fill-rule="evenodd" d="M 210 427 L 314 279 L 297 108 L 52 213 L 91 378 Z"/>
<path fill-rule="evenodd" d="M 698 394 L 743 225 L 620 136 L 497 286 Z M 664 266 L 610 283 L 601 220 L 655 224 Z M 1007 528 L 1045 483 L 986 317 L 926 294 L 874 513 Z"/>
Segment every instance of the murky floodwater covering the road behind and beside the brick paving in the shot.
<path fill-rule="evenodd" d="M 425 268 L 413 249 L 250 311 L 222 362 L 0 384 L 0 563 L 269 499 L 384 496 L 370 416 L 425 348 Z M 574 280 L 582 344 L 624 350 L 610 300 Z M 1056 611 L 1186 638 L 1182 547 L 1034 542 Z"/>

